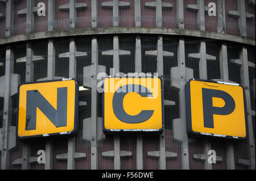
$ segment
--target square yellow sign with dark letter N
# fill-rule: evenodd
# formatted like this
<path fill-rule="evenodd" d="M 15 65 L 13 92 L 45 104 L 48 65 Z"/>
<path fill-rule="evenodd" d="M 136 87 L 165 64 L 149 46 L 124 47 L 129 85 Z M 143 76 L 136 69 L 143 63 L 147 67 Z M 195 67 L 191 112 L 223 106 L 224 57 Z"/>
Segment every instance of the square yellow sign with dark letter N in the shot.
<path fill-rule="evenodd" d="M 22 83 L 18 96 L 18 138 L 75 134 L 79 106 L 75 79 Z"/>

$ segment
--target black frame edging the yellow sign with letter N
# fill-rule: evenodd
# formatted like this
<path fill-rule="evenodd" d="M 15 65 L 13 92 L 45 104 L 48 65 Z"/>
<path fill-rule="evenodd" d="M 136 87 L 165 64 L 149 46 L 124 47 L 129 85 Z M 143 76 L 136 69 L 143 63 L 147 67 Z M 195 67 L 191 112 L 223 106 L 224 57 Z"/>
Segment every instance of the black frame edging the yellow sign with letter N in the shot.
<path fill-rule="evenodd" d="M 46 82 L 59 82 L 59 81 L 75 81 L 75 115 L 74 115 L 74 128 L 71 132 L 67 133 L 49 133 L 47 136 L 44 136 L 44 134 L 37 134 L 33 136 L 23 136 L 20 137 L 18 135 L 18 125 L 19 125 L 19 93 L 20 93 L 20 86 L 22 85 L 28 85 L 28 84 L 36 84 L 36 83 L 46 83 Z M 47 81 L 36 81 L 36 82 L 23 82 L 20 83 L 18 86 L 18 95 L 17 95 L 17 113 L 16 113 L 16 137 L 19 140 L 22 141 L 30 141 L 34 140 L 35 138 L 55 138 L 55 137 L 72 137 L 75 136 L 77 133 L 77 128 L 79 127 L 79 85 L 75 78 L 62 78 L 62 79 L 53 79 L 53 80 L 47 80 Z"/>

